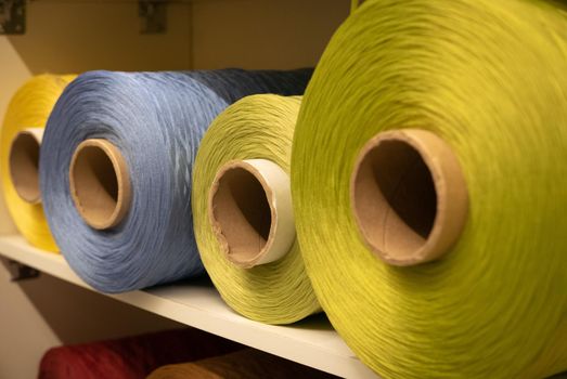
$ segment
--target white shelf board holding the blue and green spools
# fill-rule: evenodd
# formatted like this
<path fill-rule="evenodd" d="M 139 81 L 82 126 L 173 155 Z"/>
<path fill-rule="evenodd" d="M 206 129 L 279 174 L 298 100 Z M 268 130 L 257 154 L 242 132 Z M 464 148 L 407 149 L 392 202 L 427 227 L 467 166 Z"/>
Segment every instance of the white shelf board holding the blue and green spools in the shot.
<path fill-rule="evenodd" d="M 33 248 L 20 236 L 0 237 L 0 254 L 94 291 L 70 270 L 63 256 Z M 293 326 L 253 322 L 234 313 L 203 280 L 106 296 L 340 377 L 377 378 L 323 315 Z"/>

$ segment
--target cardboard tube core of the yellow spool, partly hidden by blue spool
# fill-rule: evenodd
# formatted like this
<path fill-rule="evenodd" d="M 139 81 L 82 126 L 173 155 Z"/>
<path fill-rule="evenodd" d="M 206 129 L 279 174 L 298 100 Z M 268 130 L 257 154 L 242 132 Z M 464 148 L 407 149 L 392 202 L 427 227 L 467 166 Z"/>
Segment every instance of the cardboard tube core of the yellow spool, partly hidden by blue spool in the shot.
<path fill-rule="evenodd" d="M 43 129 L 29 128 L 16 134 L 10 146 L 10 178 L 17 195 L 26 202 L 41 202 L 39 148 Z"/>

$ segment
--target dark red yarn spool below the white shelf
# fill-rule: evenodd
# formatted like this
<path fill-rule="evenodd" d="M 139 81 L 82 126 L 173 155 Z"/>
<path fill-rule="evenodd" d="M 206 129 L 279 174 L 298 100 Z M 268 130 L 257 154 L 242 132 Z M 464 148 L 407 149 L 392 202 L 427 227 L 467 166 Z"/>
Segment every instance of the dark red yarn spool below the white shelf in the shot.
<path fill-rule="evenodd" d="M 198 362 L 243 348 L 193 328 L 63 345 L 46 352 L 38 379 L 142 379 L 164 365 Z"/>

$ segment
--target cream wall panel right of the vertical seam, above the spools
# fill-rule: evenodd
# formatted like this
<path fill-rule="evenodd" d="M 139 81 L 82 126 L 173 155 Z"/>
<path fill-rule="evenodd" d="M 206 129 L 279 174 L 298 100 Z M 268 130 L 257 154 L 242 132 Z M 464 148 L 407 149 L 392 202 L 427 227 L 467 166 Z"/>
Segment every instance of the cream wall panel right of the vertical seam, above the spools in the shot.
<path fill-rule="evenodd" d="M 203 0 L 193 3 L 195 68 L 314 66 L 350 0 Z"/>

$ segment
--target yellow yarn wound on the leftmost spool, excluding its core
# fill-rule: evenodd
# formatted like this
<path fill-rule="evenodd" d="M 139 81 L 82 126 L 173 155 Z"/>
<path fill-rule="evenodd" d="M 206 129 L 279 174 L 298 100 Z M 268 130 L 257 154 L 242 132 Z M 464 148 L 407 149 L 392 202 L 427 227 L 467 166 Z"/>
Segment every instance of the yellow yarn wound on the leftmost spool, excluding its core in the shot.
<path fill-rule="evenodd" d="M 14 188 L 9 169 L 10 146 L 22 130 L 46 127 L 55 102 L 74 78 L 74 76 L 39 75 L 24 83 L 10 101 L 0 142 L 2 188 L 10 215 L 29 244 L 53 252 L 57 251 L 57 247 L 49 231 L 43 206 L 26 202 Z"/>

